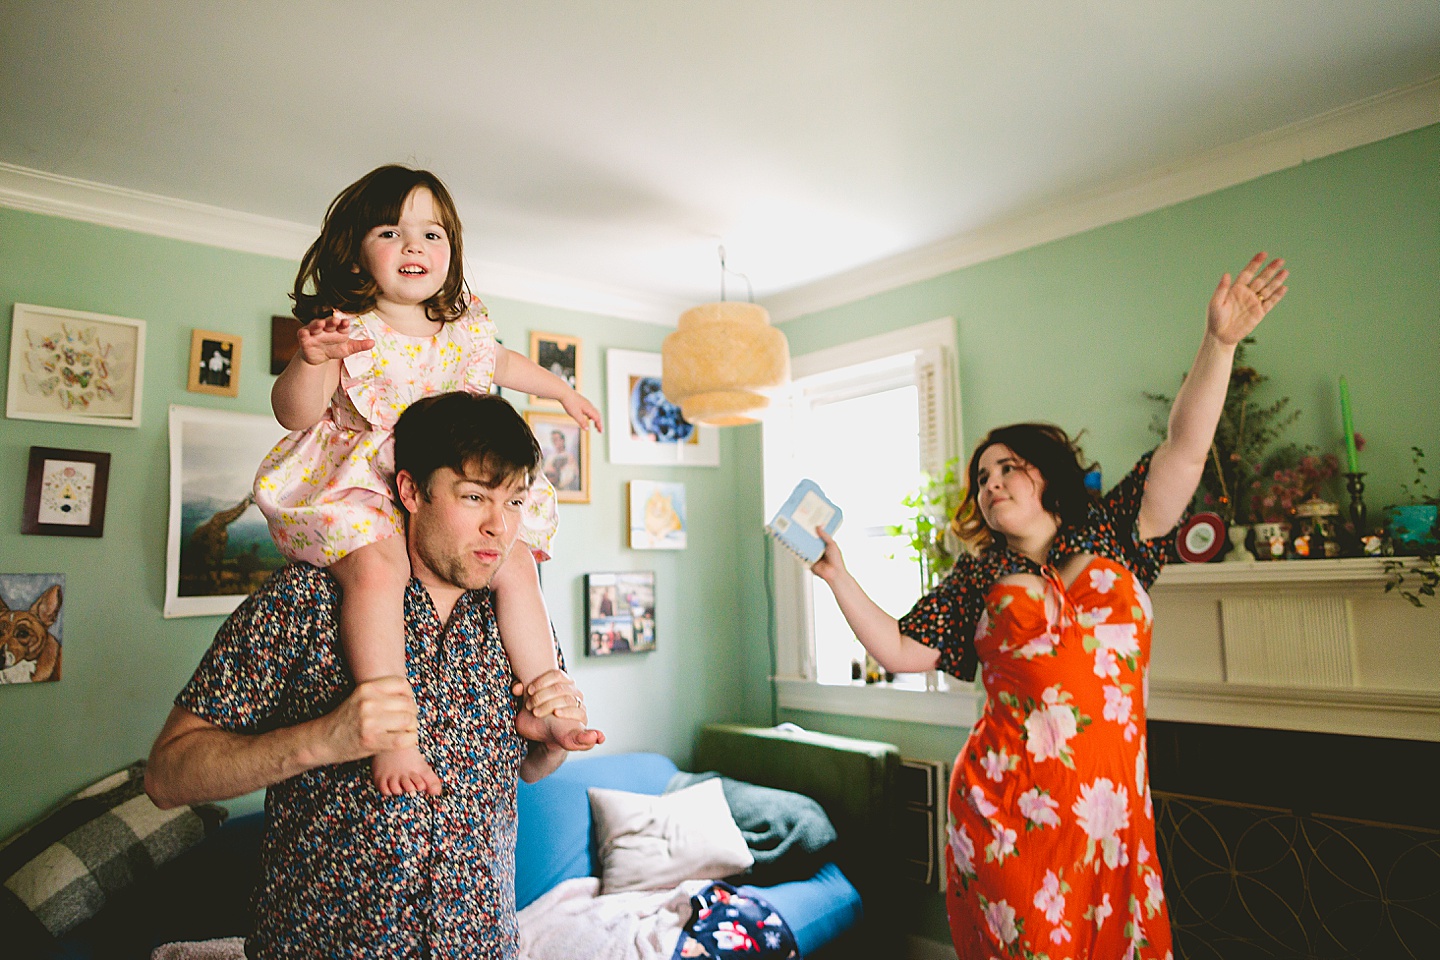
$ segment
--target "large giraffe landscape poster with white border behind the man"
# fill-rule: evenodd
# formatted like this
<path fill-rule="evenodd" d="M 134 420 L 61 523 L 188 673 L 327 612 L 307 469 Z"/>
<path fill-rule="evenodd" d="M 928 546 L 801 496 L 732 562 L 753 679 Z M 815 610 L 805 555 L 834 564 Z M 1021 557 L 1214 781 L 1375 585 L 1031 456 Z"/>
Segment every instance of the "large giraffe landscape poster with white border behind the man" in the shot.
<path fill-rule="evenodd" d="M 271 416 L 170 406 L 166 617 L 228 615 L 285 566 L 251 501 L 255 471 L 285 433 Z M 207 521 L 223 525 L 219 564 L 193 538 Z"/>

